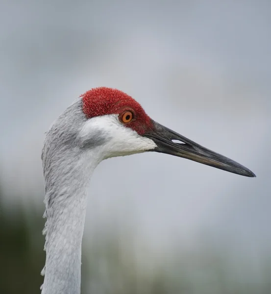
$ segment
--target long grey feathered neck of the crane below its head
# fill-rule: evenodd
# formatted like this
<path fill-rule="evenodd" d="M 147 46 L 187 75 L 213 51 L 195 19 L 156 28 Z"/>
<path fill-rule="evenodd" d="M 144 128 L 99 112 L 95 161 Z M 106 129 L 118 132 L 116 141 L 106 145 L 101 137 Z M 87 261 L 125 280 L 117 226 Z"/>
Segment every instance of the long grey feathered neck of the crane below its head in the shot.
<path fill-rule="evenodd" d="M 44 149 L 47 222 L 42 294 L 80 294 L 86 190 L 99 164 L 95 154 L 95 149 L 54 148 L 53 144 Z"/>

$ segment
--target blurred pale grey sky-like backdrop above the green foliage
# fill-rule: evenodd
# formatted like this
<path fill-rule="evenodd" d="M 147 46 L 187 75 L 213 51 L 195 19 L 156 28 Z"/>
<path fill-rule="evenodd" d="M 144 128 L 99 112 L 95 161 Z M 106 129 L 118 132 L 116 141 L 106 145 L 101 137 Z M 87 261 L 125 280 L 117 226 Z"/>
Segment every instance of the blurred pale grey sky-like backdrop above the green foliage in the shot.
<path fill-rule="evenodd" d="M 130 225 L 163 252 L 204 234 L 257 258 L 270 250 L 269 1 L 6 0 L 0 20 L 6 203 L 43 205 L 44 132 L 80 94 L 109 86 L 257 178 L 158 153 L 106 160 L 92 178 L 86 236 Z"/>

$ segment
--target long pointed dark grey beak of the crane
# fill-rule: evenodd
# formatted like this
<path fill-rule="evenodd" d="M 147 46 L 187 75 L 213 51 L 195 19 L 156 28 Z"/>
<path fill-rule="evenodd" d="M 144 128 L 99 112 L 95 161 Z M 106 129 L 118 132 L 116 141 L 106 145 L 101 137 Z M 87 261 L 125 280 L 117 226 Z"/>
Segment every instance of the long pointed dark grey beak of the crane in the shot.
<path fill-rule="evenodd" d="M 219 153 L 202 147 L 159 123 L 153 121 L 153 125 L 153 129 L 145 134 L 146 137 L 153 140 L 157 145 L 152 151 L 187 158 L 227 172 L 233 172 L 249 177 L 256 176 L 241 164 Z M 175 143 L 172 140 L 178 140 L 181 142 Z"/>

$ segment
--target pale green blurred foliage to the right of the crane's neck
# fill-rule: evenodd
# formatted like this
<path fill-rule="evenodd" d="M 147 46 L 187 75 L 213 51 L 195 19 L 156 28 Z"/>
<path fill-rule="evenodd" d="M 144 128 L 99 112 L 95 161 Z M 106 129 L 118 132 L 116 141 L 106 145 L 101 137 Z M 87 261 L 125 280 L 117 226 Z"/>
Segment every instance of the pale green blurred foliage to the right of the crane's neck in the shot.
<path fill-rule="evenodd" d="M 131 236 L 117 232 L 94 236 L 87 244 L 91 261 L 87 270 L 88 293 L 95 294 L 271 294 L 271 259 L 260 276 L 249 276 L 246 267 L 236 274 L 223 250 L 203 246 L 198 251 L 177 249 L 155 259 L 146 254 L 144 264 L 134 252 Z M 181 248 L 181 247 L 180 247 Z M 84 253 L 85 254 L 85 253 Z M 240 258 L 240 262 L 242 257 Z M 146 267 L 147 262 L 147 267 Z M 153 264 L 154 266 L 149 266 Z"/>

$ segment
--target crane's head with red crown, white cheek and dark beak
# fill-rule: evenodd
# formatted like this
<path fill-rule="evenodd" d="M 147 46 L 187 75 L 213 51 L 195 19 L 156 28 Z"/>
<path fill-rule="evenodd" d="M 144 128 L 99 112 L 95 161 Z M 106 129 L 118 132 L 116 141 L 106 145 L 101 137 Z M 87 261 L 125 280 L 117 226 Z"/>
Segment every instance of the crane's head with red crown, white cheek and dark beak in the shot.
<path fill-rule="evenodd" d="M 255 177 L 241 164 L 156 123 L 137 101 L 120 90 L 95 88 L 81 98 L 87 120 L 80 130 L 80 140 L 85 147 L 97 147 L 101 160 L 155 151 Z"/>

